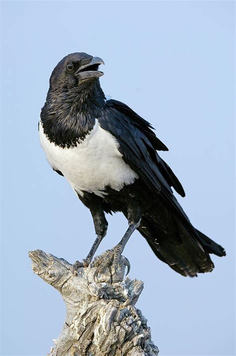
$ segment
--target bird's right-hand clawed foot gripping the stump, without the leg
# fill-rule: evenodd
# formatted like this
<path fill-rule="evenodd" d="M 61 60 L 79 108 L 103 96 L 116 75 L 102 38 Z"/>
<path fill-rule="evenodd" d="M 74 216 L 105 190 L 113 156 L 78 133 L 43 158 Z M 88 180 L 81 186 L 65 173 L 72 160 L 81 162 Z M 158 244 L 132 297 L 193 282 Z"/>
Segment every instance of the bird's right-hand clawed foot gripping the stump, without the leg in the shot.
<path fill-rule="evenodd" d="M 106 268 L 112 267 L 115 271 L 120 268 L 120 258 L 121 258 L 121 246 L 118 244 L 111 250 L 107 250 L 101 256 L 97 256 L 91 262 L 90 266 L 97 268 L 97 273 L 104 273 Z M 124 258 L 125 266 L 127 267 L 127 273 L 130 271 L 130 263 L 126 257 Z"/>

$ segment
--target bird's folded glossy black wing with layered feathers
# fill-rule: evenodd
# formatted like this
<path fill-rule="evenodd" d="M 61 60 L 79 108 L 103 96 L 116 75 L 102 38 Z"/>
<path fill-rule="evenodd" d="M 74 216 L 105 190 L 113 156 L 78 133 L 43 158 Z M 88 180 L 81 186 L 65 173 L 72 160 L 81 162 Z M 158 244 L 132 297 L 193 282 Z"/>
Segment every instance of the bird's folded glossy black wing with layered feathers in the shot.
<path fill-rule="evenodd" d="M 157 147 L 159 150 L 167 148 L 155 136 L 151 125 L 128 106 L 113 99 L 106 102 L 98 120 L 100 126 L 118 140 L 124 162 L 153 193 L 159 194 L 176 218 L 182 221 L 182 228 L 199 240 L 195 228 L 171 190 L 173 186 L 181 196 L 185 196 L 181 183 L 156 152 Z"/>

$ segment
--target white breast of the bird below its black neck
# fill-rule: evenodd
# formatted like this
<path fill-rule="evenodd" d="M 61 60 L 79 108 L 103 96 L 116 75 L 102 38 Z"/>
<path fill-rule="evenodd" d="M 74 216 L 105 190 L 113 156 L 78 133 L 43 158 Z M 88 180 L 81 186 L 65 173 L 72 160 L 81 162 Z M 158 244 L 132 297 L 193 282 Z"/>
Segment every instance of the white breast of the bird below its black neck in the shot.
<path fill-rule="evenodd" d="M 52 168 L 61 171 L 71 186 L 81 195 L 81 190 L 104 196 L 106 186 L 120 190 L 138 176 L 122 160 L 115 137 L 103 130 L 98 120 L 93 130 L 77 147 L 61 148 L 50 143 L 39 125 L 43 150 Z"/>

